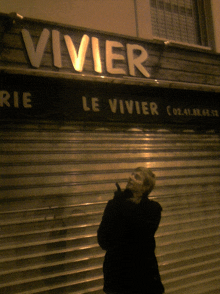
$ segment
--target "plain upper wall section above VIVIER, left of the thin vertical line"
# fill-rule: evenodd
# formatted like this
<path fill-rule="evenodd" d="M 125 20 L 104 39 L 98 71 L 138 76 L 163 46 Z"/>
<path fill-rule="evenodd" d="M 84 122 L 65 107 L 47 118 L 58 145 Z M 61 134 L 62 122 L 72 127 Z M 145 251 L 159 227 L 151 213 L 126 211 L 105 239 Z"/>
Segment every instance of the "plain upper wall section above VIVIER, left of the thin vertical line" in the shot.
<path fill-rule="evenodd" d="M 0 0 L 0 12 L 136 36 L 134 0 Z"/>

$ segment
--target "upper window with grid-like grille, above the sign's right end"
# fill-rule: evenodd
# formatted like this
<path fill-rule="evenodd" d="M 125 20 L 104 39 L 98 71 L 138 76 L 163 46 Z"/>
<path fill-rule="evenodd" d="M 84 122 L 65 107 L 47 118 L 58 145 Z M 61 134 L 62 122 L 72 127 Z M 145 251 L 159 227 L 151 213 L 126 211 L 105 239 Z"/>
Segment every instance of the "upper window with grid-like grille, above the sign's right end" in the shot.
<path fill-rule="evenodd" d="M 208 46 L 205 7 L 200 0 L 150 0 L 155 37 Z"/>

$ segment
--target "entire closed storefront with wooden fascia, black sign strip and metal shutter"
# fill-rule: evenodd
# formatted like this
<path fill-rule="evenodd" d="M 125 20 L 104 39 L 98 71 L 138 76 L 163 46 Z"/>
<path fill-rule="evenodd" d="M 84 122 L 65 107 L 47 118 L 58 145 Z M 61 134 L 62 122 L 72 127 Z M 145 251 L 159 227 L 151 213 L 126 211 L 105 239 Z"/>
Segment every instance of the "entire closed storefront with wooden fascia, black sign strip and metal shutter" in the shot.
<path fill-rule="evenodd" d="M 219 56 L 1 15 L 1 293 L 102 293 L 96 231 L 148 166 L 166 293 L 219 290 Z"/>

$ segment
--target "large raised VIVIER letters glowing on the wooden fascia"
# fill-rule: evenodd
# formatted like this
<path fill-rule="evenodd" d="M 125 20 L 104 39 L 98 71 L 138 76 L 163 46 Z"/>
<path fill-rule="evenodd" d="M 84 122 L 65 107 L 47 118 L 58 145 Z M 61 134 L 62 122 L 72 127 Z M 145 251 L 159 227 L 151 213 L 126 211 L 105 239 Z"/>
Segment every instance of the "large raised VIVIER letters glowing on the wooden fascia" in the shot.
<path fill-rule="evenodd" d="M 61 35 L 58 30 L 50 31 L 44 28 L 35 46 L 30 32 L 27 29 L 22 29 L 21 32 L 29 61 L 34 68 L 40 68 L 46 46 L 50 39 L 52 44 L 53 66 L 57 68 L 63 67 L 62 37 L 66 47 L 65 50 L 67 50 L 72 67 L 76 72 L 83 72 L 88 47 L 90 46 L 94 72 L 102 74 L 104 72 L 103 66 L 105 66 L 108 74 L 126 75 L 128 72 L 130 76 L 136 76 L 136 70 L 138 70 L 143 76 L 150 77 L 144 65 L 144 62 L 148 58 L 148 53 L 139 44 L 126 43 L 124 45 L 120 41 L 107 39 L 104 44 L 105 50 L 102 50 L 103 53 L 101 53 L 100 39 L 94 36 L 90 37 L 87 34 L 82 35 L 77 50 L 74 35 Z M 125 65 L 125 67 L 121 65 Z"/>

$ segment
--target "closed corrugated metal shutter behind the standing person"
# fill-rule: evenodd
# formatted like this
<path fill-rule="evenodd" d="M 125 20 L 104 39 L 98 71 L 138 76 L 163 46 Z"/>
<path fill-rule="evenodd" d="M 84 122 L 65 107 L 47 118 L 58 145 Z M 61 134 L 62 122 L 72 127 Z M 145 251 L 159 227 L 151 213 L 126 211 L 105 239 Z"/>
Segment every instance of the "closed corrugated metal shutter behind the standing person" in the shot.
<path fill-rule="evenodd" d="M 219 136 L 52 124 L 1 128 L 0 293 L 102 293 L 96 231 L 139 165 L 158 178 L 166 293 L 218 293 Z"/>

